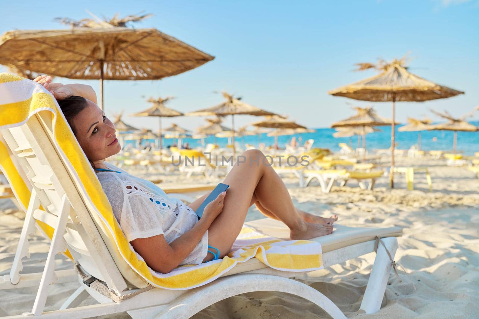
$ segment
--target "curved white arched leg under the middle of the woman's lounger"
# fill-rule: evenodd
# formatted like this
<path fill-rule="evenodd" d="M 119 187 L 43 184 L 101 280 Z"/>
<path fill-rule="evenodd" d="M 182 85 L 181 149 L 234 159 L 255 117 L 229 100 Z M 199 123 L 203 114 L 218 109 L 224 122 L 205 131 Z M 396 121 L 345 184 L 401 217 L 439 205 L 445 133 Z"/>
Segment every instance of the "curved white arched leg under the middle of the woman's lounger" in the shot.
<path fill-rule="evenodd" d="M 252 291 L 278 291 L 303 297 L 326 311 L 332 318 L 346 317 L 341 310 L 318 290 L 299 281 L 273 275 L 244 274 L 224 277 L 212 283 L 195 288 L 175 299 L 154 318 L 190 318 L 202 309 L 228 297 Z M 132 318 L 148 319 L 152 317 L 135 315 Z"/>

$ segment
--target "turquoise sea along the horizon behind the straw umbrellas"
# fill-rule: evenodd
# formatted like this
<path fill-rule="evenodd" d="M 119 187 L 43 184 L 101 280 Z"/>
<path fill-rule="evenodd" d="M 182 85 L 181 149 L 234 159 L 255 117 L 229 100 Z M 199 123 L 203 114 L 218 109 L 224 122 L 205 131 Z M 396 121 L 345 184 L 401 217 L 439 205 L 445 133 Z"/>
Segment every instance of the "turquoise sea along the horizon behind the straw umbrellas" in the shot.
<path fill-rule="evenodd" d="M 479 121 L 471 121 L 470 123 L 479 126 Z M 409 149 L 412 145 L 418 143 L 418 132 L 398 132 L 397 129 L 401 125 L 396 126 L 396 143 L 398 143 L 398 149 Z M 391 127 L 382 126 L 378 127 L 381 132 L 374 132 L 366 135 L 366 148 L 369 151 L 374 149 L 387 149 L 391 145 Z M 293 136 L 296 138 L 301 137 L 304 143 L 308 139 L 313 139 L 313 147 L 329 148 L 331 151 L 339 151 L 340 147 L 338 143 L 352 143 L 352 147 L 357 147 L 357 136 L 335 138 L 332 134 L 336 132 L 330 128 L 318 128 L 314 133 L 301 133 L 295 135 L 278 136 L 279 147 L 284 147 Z M 435 139 L 434 139 L 435 138 Z M 425 151 L 430 150 L 444 150 L 452 151 L 453 148 L 454 132 L 450 131 L 422 131 L 421 132 L 421 149 Z M 242 138 L 236 138 L 236 141 L 243 143 Z M 274 137 L 266 136 L 266 133 L 260 136 L 261 143 L 265 143 L 267 146 L 274 144 Z M 158 140 L 143 140 L 142 144 L 155 142 L 158 144 Z M 136 141 L 126 141 L 126 144 L 137 143 Z M 163 147 L 176 143 L 176 139 L 163 139 Z M 182 143 L 189 143 L 191 148 L 201 146 L 201 140 L 195 140 L 192 138 L 184 138 Z M 215 137 L 211 136 L 205 139 L 205 143 L 215 143 Z M 228 138 L 216 138 L 216 143 L 220 147 L 224 147 L 228 143 Z M 253 144 L 258 146 L 258 135 L 251 135 L 244 137 L 244 143 Z M 479 132 L 457 132 L 457 151 L 463 152 L 465 155 L 472 155 L 475 152 L 479 152 Z"/>

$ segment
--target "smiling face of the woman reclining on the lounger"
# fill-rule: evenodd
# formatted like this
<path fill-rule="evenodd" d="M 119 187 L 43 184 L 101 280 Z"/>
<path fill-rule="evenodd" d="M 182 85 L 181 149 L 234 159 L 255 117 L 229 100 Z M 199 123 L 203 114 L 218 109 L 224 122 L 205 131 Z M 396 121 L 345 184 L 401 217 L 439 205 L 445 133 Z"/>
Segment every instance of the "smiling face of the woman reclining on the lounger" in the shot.
<path fill-rule="evenodd" d="M 92 162 L 104 160 L 121 150 L 115 135 L 115 126 L 104 116 L 95 103 L 88 100 L 88 107 L 81 110 L 72 120 L 75 136 L 83 152 Z"/>

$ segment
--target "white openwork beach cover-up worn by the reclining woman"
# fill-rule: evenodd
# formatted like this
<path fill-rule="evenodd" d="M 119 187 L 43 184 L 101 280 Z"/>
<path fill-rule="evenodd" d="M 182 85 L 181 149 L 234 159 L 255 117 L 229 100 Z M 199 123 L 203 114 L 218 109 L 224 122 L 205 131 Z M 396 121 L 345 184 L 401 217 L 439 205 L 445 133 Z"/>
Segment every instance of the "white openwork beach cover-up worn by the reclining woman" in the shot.
<path fill-rule="evenodd" d="M 105 165 L 121 172 L 97 172 L 97 177 L 128 242 L 163 235 L 171 243 L 198 222 L 193 209 L 178 198 L 169 198 L 154 183 Z M 181 264 L 201 264 L 207 253 L 208 231 Z"/>

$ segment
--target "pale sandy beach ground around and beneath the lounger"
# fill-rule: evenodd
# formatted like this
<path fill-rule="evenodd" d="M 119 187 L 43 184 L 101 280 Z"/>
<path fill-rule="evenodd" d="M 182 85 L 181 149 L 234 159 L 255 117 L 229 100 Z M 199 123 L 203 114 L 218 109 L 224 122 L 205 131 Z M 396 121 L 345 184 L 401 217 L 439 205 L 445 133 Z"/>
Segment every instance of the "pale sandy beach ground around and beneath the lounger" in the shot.
<path fill-rule="evenodd" d="M 428 165 L 433 180 L 429 192 L 423 174 L 415 176 L 415 190 L 406 190 L 404 176 L 396 177 L 397 189 L 387 188 L 381 177 L 372 191 L 333 187 L 321 192 L 319 184 L 299 188 L 297 179 L 284 181 L 297 208 L 323 216 L 338 214 L 338 223 L 352 227 L 399 226 L 404 234 L 399 241 L 396 261 L 398 277 L 391 272 L 381 310 L 374 315 L 358 310 L 365 290 L 374 253 L 333 267 L 298 275 L 297 280 L 331 298 L 348 317 L 355 318 L 478 318 L 479 315 L 479 180 L 464 167 L 446 167 L 444 160 L 399 158 L 397 165 Z M 151 176 L 150 173 L 136 172 Z M 158 174 L 160 187 L 181 186 L 178 172 Z M 219 181 L 219 180 L 218 180 Z M 214 182 L 214 181 L 213 181 Z M 193 175 L 189 184 L 204 184 Z M 0 202 L 0 275 L 7 275 L 23 224 L 24 213 L 8 199 Z M 262 218 L 253 206 L 247 220 Z M 42 271 L 48 242 L 40 235 L 31 237 L 30 259 L 24 272 Z M 71 267 L 61 255 L 57 269 Z M 416 290 L 413 288 L 413 284 Z M 78 284 L 50 287 L 46 310 L 57 309 Z M 0 291 L 0 315 L 30 311 L 35 288 Z M 89 297 L 82 305 L 95 301 Z M 124 313 L 103 318 L 129 318 Z M 269 292 L 231 297 L 205 308 L 194 318 L 328 318 L 315 305 L 301 298 Z"/>

